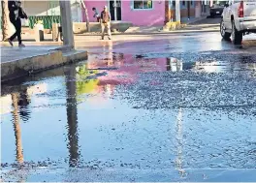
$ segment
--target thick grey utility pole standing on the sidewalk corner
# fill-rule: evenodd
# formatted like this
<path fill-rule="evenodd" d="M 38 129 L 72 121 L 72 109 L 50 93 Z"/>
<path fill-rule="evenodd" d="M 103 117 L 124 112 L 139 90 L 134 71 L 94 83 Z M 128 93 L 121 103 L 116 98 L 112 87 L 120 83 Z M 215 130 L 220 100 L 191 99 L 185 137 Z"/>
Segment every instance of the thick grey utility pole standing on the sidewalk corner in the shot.
<path fill-rule="evenodd" d="M 59 6 L 63 33 L 63 45 L 74 49 L 73 22 L 70 1 L 60 0 Z"/>

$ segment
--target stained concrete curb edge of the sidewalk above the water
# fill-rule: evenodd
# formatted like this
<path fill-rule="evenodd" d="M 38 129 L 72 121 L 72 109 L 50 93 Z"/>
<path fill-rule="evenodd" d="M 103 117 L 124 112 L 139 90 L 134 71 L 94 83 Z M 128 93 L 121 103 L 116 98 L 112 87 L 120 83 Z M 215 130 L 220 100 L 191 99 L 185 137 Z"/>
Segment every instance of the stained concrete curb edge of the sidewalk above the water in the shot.
<path fill-rule="evenodd" d="M 1 82 L 86 59 L 87 51 L 72 50 L 62 52 L 61 50 L 55 50 L 43 55 L 12 60 L 1 63 Z"/>

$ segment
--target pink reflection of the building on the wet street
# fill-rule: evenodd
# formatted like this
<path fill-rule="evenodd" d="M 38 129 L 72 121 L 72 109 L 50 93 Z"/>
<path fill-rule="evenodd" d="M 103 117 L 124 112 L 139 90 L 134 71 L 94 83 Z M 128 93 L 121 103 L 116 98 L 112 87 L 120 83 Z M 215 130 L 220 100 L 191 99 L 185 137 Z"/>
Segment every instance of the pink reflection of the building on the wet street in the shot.
<path fill-rule="evenodd" d="M 106 76 L 99 76 L 99 85 L 129 84 L 137 79 L 137 74 L 147 72 L 163 72 L 167 70 L 166 58 L 137 59 L 133 55 L 116 55 L 101 60 L 91 58 L 88 69 L 99 69 Z"/>

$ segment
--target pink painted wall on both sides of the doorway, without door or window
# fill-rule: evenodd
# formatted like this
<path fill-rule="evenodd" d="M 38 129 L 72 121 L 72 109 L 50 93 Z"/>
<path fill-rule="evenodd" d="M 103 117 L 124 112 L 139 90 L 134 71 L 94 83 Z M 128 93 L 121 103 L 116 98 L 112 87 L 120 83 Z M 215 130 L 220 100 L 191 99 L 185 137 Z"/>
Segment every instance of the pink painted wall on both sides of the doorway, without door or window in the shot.
<path fill-rule="evenodd" d="M 159 3 L 159 1 L 161 3 Z M 109 6 L 109 0 L 85 0 L 84 3 L 88 10 L 90 22 L 97 21 L 96 18 L 93 17 L 93 7 L 101 13 L 105 5 Z M 163 25 L 165 21 L 165 1 L 154 0 L 152 10 L 133 10 L 133 0 L 122 0 L 121 14 L 122 21 L 132 22 L 136 26 Z M 82 17 L 82 20 L 85 21 L 84 11 L 82 12 Z"/>

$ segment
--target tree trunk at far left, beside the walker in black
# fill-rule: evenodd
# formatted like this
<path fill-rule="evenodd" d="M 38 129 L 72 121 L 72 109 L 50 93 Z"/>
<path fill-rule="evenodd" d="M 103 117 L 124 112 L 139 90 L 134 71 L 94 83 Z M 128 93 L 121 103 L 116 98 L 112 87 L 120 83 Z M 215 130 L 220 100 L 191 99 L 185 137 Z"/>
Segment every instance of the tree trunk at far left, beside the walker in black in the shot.
<path fill-rule="evenodd" d="M 1 9 L 2 9 L 2 23 L 1 23 L 1 28 L 2 28 L 2 36 L 3 36 L 3 41 L 5 41 L 8 38 L 8 31 L 9 31 L 9 26 L 8 26 L 8 0 L 1 0 Z"/>

